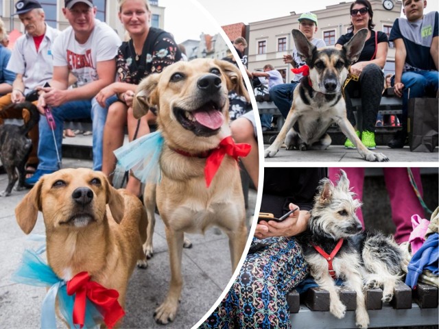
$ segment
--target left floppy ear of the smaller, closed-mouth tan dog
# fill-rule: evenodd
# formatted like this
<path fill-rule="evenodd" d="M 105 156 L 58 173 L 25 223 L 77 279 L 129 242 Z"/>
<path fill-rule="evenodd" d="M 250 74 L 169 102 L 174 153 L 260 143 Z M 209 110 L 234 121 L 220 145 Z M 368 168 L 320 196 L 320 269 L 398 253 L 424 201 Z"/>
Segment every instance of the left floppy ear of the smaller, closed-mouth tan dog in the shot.
<path fill-rule="evenodd" d="M 41 186 L 43 186 L 43 181 L 44 178 L 40 178 L 15 208 L 16 222 L 25 234 L 32 232 L 38 217 L 38 210 L 42 210 Z"/>

